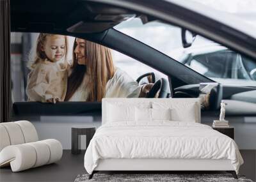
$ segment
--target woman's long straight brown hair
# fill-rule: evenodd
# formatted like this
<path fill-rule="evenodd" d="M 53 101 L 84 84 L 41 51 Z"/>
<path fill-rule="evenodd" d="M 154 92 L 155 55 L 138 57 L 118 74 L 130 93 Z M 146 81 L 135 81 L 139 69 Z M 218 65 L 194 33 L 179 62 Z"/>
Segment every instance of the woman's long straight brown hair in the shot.
<path fill-rule="evenodd" d="M 111 50 L 97 43 L 86 40 L 85 57 L 86 66 L 77 63 L 74 50 L 76 49 L 76 40 L 73 48 L 73 70 L 68 77 L 68 88 L 65 101 L 68 101 L 83 82 L 85 73 L 89 77 L 88 87 L 89 95 L 87 102 L 101 102 L 106 94 L 106 84 L 115 73 L 115 67 L 112 60 Z"/>

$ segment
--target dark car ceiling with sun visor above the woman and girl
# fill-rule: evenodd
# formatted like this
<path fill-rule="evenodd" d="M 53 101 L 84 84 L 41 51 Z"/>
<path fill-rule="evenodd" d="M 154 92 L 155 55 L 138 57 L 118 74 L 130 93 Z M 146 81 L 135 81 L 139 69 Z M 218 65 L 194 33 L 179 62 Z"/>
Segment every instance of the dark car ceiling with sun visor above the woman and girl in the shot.
<path fill-rule="evenodd" d="M 11 28 L 21 32 L 98 33 L 135 15 L 124 8 L 92 1 L 13 0 Z"/>

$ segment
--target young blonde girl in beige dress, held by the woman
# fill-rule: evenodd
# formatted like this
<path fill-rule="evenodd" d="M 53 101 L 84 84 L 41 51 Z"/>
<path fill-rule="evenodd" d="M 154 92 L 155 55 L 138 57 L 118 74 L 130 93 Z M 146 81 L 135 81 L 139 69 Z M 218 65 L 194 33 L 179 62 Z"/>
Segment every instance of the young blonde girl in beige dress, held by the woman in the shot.
<path fill-rule="evenodd" d="M 40 33 L 36 55 L 29 64 L 26 93 L 29 101 L 56 103 L 65 99 L 68 63 L 67 36 Z"/>

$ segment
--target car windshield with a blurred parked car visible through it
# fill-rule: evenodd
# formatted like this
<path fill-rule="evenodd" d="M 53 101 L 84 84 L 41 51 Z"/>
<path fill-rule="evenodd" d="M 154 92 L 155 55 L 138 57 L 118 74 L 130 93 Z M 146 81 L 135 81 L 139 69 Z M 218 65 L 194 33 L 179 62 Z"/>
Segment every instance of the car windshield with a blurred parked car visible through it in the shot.
<path fill-rule="evenodd" d="M 216 82 L 256 86 L 255 61 L 207 38 L 196 35 L 192 45 L 184 48 L 180 27 L 159 21 L 143 24 L 138 18 L 122 22 L 114 28 Z"/>

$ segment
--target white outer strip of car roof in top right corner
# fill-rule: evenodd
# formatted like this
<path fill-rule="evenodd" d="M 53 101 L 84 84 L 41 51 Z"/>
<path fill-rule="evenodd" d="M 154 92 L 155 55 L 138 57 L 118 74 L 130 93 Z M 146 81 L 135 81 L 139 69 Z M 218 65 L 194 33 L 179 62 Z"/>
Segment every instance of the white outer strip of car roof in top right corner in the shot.
<path fill-rule="evenodd" d="M 192 10 L 197 13 L 200 13 L 205 17 L 209 17 L 213 20 L 221 22 L 222 24 L 230 26 L 238 31 L 248 34 L 253 38 L 256 38 L 256 26 L 253 26 L 252 23 L 250 22 L 246 22 L 243 18 L 239 16 L 213 9 L 209 6 L 205 6 L 204 4 L 198 3 L 196 1 L 188 1 L 188 0 L 166 0 L 166 1 L 182 6 L 183 8 L 186 8 L 188 10 Z"/>

